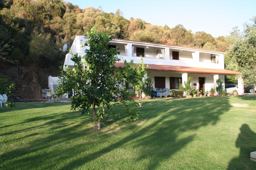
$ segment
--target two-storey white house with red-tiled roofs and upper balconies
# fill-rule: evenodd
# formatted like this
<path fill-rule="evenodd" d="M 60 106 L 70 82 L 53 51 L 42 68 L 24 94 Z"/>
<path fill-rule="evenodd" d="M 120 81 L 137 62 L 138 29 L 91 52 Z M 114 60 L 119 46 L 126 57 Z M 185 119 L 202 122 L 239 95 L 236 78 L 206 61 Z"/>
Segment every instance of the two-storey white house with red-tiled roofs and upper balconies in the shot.
<path fill-rule="evenodd" d="M 87 40 L 88 37 L 85 35 L 76 35 L 71 51 L 74 54 L 85 55 L 84 50 L 89 47 L 81 48 L 81 45 Z M 149 66 L 147 75 L 155 81 L 156 88 L 177 89 L 179 84 L 183 84 L 189 76 L 192 76 L 192 83 L 196 89 L 209 91 L 211 87 L 217 86 L 216 80 L 219 77 L 225 83 L 224 75 L 239 74 L 224 69 L 222 51 L 119 38 L 113 38 L 109 42 L 109 47 L 119 47 L 119 51 L 121 51 L 119 55 L 121 62 L 116 63 L 117 67 L 123 66 L 124 60 L 141 63 L 139 56 L 142 55 L 144 63 Z M 63 67 L 66 67 L 67 64 L 74 66 L 74 62 L 70 58 L 71 54 L 67 54 Z M 55 80 L 54 77 L 50 77 L 50 79 Z M 50 85 L 51 83 L 53 87 L 56 81 L 49 82 Z M 217 92 L 214 95 L 217 95 Z M 238 95 L 243 95 L 242 80 L 238 80 Z"/>

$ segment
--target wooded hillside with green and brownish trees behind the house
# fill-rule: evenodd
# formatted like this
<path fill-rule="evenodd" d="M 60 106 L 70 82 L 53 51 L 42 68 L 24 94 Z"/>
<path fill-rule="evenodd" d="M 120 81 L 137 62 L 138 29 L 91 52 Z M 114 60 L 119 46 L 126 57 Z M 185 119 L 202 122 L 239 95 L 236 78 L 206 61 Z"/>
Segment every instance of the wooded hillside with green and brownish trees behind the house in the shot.
<path fill-rule="evenodd" d="M 169 28 L 126 19 L 120 9 L 106 13 L 60 0 L 0 0 L 0 75 L 8 75 L 16 84 L 13 97 L 40 98 L 41 88 L 48 87 L 47 77 L 59 74 L 65 58 L 59 49 L 65 40 L 71 45 L 75 35 L 85 34 L 91 25 L 117 38 L 219 51 L 225 51 L 238 32 L 234 28 L 230 36 L 214 38 L 181 24 Z"/>

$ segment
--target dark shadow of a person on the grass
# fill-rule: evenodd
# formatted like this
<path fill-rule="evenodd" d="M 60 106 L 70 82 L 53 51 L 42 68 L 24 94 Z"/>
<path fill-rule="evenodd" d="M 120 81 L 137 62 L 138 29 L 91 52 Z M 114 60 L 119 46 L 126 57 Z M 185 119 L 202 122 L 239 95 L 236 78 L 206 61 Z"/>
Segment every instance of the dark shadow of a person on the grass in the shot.
<path fill-rule="evenodd" d="M 256 133 L 247 124 L 243 124 L 240 131 L 236 141 L 239 157 L 233 158 L 227 169 L 255 169 L 256 163 L 250 160 L 250 153 L 256 151 Z"/>

